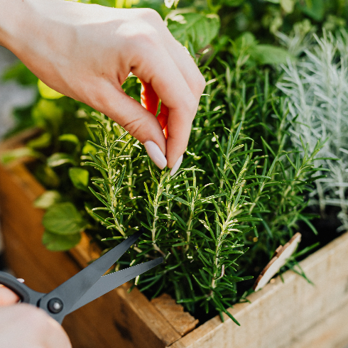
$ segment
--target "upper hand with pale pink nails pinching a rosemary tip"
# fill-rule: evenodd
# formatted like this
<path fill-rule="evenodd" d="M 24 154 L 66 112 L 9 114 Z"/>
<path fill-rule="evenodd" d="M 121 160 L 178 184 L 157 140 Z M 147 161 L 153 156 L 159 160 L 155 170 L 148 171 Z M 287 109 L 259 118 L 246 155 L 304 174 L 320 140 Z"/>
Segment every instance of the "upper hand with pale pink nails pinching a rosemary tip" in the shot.
<path fill-rule="evenodd" d="M 46 85 L 123 126 L 145 144 L 160 168 L 178 166 L 205 80 L 156 11 L 60 0 L 0 0 L 1 11 L 11 6 L 21 20 L 3 24 L 7 31 L 1 41 L 0 30 L 1 44 Z M 5 11 L 2 19 L 6 22 L 11 13 L 6 16 Z M 150 84 L 168 107 L 167 139 L 156 117 L 121 89 L 129 72 Z"/>

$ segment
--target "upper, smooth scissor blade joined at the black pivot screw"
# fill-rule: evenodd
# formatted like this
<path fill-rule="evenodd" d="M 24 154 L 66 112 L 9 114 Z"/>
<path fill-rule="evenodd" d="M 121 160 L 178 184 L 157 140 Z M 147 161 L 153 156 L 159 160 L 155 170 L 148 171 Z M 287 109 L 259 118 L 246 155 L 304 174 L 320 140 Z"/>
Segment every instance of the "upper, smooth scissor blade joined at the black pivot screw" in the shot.
<path fill-rule="evenodd" d="M 100 277 L 126 252 L 127 249 L 143 234 L 143 231 L 136 232 L 114 249 L 108 251 L 96 261 L 91 263 L 72 278 L 62 283 L 40 301 L 40 307 L 46 308 L 52 298 L 59 298 L 64 303 L 64 309 L 60 314 L 64 317 L 70 312 L 75 303 L 85 294 L 94 283 L 99 281 Z"/>

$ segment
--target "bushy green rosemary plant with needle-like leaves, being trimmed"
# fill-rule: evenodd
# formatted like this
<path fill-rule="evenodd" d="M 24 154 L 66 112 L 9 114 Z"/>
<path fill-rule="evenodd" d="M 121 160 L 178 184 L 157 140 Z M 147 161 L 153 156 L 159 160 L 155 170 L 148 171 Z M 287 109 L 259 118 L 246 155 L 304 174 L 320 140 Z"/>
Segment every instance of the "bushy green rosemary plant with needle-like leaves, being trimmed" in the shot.
<path fill-rule="evenodd" d="M 284 99 L 271 87 L 272 74 L 249 61 L 248 47 L 205 75 L 207 95 L 173 176 L 158 172 L 114 121 L 90 114 L 97 151 L 82 165 L 92 167 L 89 190 L 97 200 L 86 204 L 96 224 L 87 231 L 109 248 L 143 227 L 143 240 L 116 270 L 163 256 L 162 266 L 136 278 L 141 291 L 166 291 L 191 312 L 202 307 L 232 317 L 227 308 L 246 295 L 236 283 L 256 275 L 298 220 L 312 227 L 303 213 L 305 192 L 323 144 L 310 150 L 290 143 Z M 127 88 L 131 83 L 136 79 Z"/>

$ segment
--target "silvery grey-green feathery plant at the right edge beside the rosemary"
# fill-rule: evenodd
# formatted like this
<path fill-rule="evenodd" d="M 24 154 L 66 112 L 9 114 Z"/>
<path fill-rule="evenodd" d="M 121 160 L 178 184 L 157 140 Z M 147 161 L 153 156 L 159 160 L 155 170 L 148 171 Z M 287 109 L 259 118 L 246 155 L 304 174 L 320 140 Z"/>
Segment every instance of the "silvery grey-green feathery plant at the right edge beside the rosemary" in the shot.
<path fill-rule="evenodd" d="M 304 58 L 283 66 L 277 86 L 287 97 L 293 143 L 299 145 L 303 138 L 312 150 L 317 141 L 327 139 L 316 159 L 330 171 L 316 180 L 311 204 L 320 205 L 322 214 L 327 206 L 339 207 L 338 230 L 343 231 L 348 229 L 348 34 L 324 31 L 322 38 L 312 36 L 316 44 L 304 50 Z"/>

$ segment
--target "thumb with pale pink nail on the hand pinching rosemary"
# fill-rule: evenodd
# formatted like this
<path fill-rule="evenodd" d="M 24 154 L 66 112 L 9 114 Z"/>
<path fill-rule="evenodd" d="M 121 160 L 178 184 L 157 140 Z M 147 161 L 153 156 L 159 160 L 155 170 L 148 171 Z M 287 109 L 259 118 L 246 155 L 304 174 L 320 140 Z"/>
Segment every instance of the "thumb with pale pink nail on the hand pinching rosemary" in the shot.
<path fill-rule="evenodd" d="M 134 136 L 138 141 L 143 143 L 153 163 L 160 169 L 165 168 L 167 165 L 165 158 L 165 136 L 161 125 L 154 115 L 158 107 L 156 93 L 153 92 L 148 100 L 146 98 L 149 94 L 142 97 L 143 107 L 136 100 L 129 97 L 123 90 L 115 89 L 113 85 L 109 84 L 103 87 L 99 89 L 101 93 L 99 93 L 97 103 L 94 103 L 95 109 L 106 114 L 120 126 L 124 127 L 126 131 L 129 131 L 131 136 Z M 146 105 L 149 105 L 148 102 L 150 100 L 151 112 L 154 112 L 154 114 L 145 109 Z"/>

